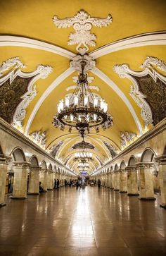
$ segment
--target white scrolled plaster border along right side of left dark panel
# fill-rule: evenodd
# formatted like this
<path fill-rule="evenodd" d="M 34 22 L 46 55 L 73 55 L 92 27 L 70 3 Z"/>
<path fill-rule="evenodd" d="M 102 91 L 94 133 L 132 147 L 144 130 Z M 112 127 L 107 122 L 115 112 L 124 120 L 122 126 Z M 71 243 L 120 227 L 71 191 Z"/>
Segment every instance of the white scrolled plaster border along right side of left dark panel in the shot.
<path fill-rule="evenodd" d="M 37 67 L 37 70 L 33 73 L 29 73 L 29 75 L 35 75 L 35 78 L 32 79 L 30 84 L 27 87 L 27 92 L 25 95 L 21 97 L 23 99 L 20 104 L 17 106 L 17 109 L 15 110 L 15 114 L 13 116 L 13 126 L 18 125 L 20 128 L 23 127 L 23 119 L 26 115 L 27 106 L 29 106 L 30 102 L 32 102 L 32 99 L 37 95 L 36 86 L 34 85 L 34 82 L 36 82 L 37 79 L 45 79 L 48 77 L 48 75 L 53 71 L 53 68 L 51 66 L 43 66 L 40 65 Z"/>

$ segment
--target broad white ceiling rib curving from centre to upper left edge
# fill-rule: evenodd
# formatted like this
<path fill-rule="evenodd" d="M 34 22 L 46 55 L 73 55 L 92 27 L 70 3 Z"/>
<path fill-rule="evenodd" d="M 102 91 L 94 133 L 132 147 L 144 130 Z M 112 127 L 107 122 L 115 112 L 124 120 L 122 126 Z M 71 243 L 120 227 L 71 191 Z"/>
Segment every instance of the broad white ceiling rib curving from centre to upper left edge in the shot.
<path fill-rule="evenodd" d="M 68 59 L 72 59 L 75 56 L 75 54 L 73 54 L 71 51 L 63 49 L 61 47 L 57 47 L 53 44 L 41 42 L 39 40 L 30 39 L 27 37 L 16 37 L 11 35 L 0 36 L 0 47 L 28 47 L 33 49 L 50 51 L 53 54 L 58 54 Z"/>

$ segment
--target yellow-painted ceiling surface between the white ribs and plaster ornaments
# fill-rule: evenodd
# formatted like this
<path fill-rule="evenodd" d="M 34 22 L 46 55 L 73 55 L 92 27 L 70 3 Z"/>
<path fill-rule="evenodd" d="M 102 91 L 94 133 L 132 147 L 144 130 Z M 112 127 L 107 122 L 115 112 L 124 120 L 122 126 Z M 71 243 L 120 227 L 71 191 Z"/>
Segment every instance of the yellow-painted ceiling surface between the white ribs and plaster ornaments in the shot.
<path fill-rule="evenodd" d="M 56 28 L 53 24 L 53 16 L 58 18 L 73 17 L 79 10 L 84 10 L 91 17 L 106 18 L 108 14 L 113 17 L 113 22 L 107 27 L 93 27 L 91 32 L 96 35 L 96 47 L 89 47 L 89 52 L 94 51 L 107 44 L 113 43 L 120 39 L 129 38 L 139 34 L 161 32 L 165 30 L 165 1 L 69 1 L 60 0 L 8 0 L 0 1 L 1 23 L 0 35 L 18 36 L 29 39 L 37 39 L 39 42 L 47 42 L 53 47 L 58 46 L 61 49 L 67 49 L 75 54 L 76 45 L 68 45 L 68 39 L 71 32 L 75 30 L 70 28 Z M 0 37 L 1 37 L 0 36 Z M 23 68 L 23 72 L 32 72 L 40 64 L 48 65 L 53 68 L 52 73 L 46 79 L 39 79 L 35 83 L 37 85 L 37 96 L 34 97 L 30 105 L 26 109 L 26 116 L 23 121 L 23 133 L 27 128 L 27 123 L 32 117 L 32 112 L 36 109 L 37 102 L 41 99 L 46 89 L 55 81 L 62 73 L 70 68 L 70 59 L 67 56 L 60 56 L 44 49 L 29 48 L 27 45 L 15 46 L 1 45 L 0 63 L 18 56 L 20 60 L 27 66 Z M 117 152 L 120 152 L 120 132 L 132 132 L 140 135 L 138 126 L 134 121 L 134 117 L 129 111 L 129 106 L 125 104 L 120 95 L 113 90 L 111 83 L 115 83 L 122 91 L 123 95 L 128 99 L 129 103 L 135 111 L 139 120 L 141 129 L 144 129 L 143 119 L 141 118 L 141 109 L 137 106 L 134 99 L 129 95 L 131 81 L 127 78 L 122 79 L 113 71 L 113 66 L 116 64 L 127 63 L 134 71 L 142 71 L 141 63 L 146 59 L 146 56 L 154 56 L 158 59 L 166 60 L 165 45 L 142 45 L 141 47 L 132 47 L 129 49 L 121 49 L 100 56 L 96 59 L 96 68 L 102 71 L 112 81 L 110 85 L 103 81 L 98 75 L 89 72 L 89 76 L 93 76 L 94 80 L 91 85 L 96 85 L 99 91 L 93 90 L 94 93 L 101 95 L 108 102 L 108 112 L 113 116 L 113 127 L 105 131 L 101 130 L 96 134 L 95 130 L 87 135 L 87 140 L 96 147 L 95 154 L 102 161 L 107 161 L 110 158 L 110 152 L 103 144 L 106 140 L 110 145 L 113 145 Z M 71 154 L 69 165 L 72 164 L 73 154 L 75 150 L 70 150 L 72 145 L 78 140 L 80 141 L 77 130 L 72 133 L 66 128 L 63 132 L 54 128 L 52 125 L 53 115 L 56 114 L 57 104 L 60 99 L 65 97 L 72 90 L 67 92 L 67 87 L 75 85 L 72 77 L 77 75 L 73 72 L 64 78 L 44 99 L 37 113 L 32 119 L 27 135 L 41 130 L 46 131 L 46 150 L 49 150 L 53 145 L 57 145 L 60 140 L 64 140 L 62 147 L 58 151 L 58 159 L 67 157 Z M 151 128 L 151 126 L 148 126 Z M 93 152 L 93 150 L 92 150 Z M 94 165 L 99 166 L 98 159 L 94 157 Z M 94 169 L 91 164 L 91 170 Z M 77 170 L 77 167 L 75 167 Z"/>

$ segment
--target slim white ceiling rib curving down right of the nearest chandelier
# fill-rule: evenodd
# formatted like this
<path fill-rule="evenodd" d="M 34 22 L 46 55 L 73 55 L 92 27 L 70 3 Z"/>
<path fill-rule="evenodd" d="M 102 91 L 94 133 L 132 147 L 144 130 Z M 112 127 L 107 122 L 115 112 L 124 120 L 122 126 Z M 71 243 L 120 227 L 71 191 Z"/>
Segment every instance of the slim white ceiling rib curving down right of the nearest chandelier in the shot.
<path fill-rule="evenodd" d="M 139 134 L 142 135 L 143 130 L 141 127 L 141 123 L 139 121 L 138 116 L 136 116 L 136 112 L 134 111 L 132 104 L 129 102 L 129 99 L 127 99 L 127 97 L 120 90 L 120 88 L 117 87 L 117 85 L 113 82 L 113 80 L 108 78 L 108 76 L 105 73 L 103 73 L 102 71 L 100 71 L 98 68 L 93 68 L 93 70 L 91 72 L 94 73 L 95 75 L 97 75 L 98 78 L 101 78 L 101 80 L 103 80 L 105 83 L 107 83 L 117 93 L 117 95 L 120 96 L 122 101 L 126 104 L 127 108 L 129 109 L 130 113 L 132 114 L 132 117 L 134 118 L 134 121 L 136 123 L 136 127 L 139 130 Z"/>

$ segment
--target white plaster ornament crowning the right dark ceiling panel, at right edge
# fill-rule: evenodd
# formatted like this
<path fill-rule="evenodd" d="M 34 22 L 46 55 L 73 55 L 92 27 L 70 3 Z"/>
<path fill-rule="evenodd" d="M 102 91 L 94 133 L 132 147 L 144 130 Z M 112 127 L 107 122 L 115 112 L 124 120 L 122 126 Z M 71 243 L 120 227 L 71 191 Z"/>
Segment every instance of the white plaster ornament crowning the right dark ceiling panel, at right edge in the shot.
<path fill-rule="evenodd" d="M 158 58 L 147 56 L 146 60 L 141 64 L 140 68 L 153 68 L 157 66 L 160 71 L 166 72 L 166 63 Z"/>

